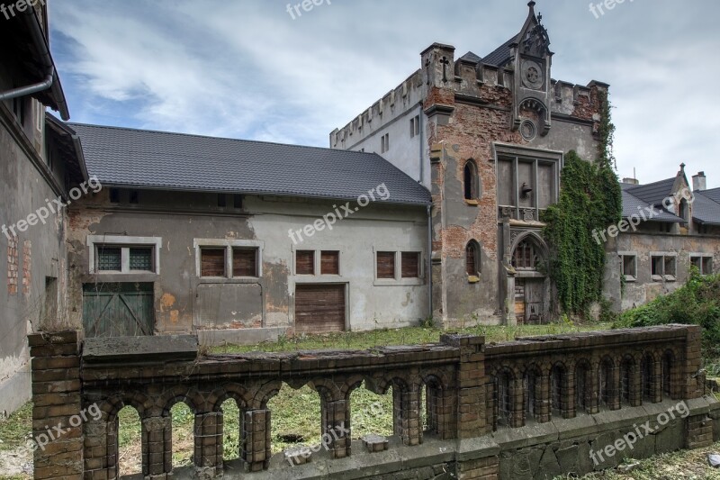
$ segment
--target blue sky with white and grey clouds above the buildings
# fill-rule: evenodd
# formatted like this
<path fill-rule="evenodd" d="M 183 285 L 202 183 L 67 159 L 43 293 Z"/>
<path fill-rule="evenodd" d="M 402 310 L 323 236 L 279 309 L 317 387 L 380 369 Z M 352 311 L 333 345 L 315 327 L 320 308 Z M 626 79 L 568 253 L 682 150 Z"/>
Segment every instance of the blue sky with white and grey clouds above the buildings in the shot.
<path fill-rule="evenodd" d="M 293 0 L 293 5 L 300 0 Z M 320 2 L 320 0 L 317 0 Z M 619 1 L 619 0 L 618 0 Z M 594 3 L 598 4 L 600 0 Z M 449 43 L 484 56 L 526 0 L 52 0 L 51 46 L 73 122 L 327 147 Z M 716 0 L 538 0 L 553 77 L 610 84 L 620 177 L 706 171 L 720 186 Z"/>

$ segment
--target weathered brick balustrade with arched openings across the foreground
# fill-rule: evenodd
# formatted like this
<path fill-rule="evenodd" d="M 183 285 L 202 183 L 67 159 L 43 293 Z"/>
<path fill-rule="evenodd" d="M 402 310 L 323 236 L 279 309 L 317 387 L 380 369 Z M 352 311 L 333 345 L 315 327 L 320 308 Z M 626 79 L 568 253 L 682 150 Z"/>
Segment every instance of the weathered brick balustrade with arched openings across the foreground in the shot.
<path fill-rule="evenodd" d="M 417 465 L 410 467 L 412 462 L 403 463 L 396 471 L 398 478 L 425 477 L 448 466 L 452 466 L 453 475 L 464 480 L 510 478 L 507 473 L 510 464 L 500 454 L 503 448 L 511 451 L 517 444 L 502 442 L 509 438 L 508 432 L 522 428 L 527 421 L 543 423 L 602 413 L 603 409 L 660 403 L 664 399 L 662 382 L 668 378 L 673 401 L 707 402 L 701 398 L 705 379 L 699 370 L 699 334 L 697 326 L 670 325 L 526 338 L 491 345 L 485 345 L 482 337 L 445 334 L 440 343 L 433 345 L 373 351 L 212 355 L 192 360 L 178 359 L 172 353 L 138 351 L 123 354 L 128 357 L 121 361 L 102 355 L 87 356 L 81 361 L 76 332 L 33 334 L 29 337 L 35 401 L 33 435 L 40 438 L 56 425 L 63 431 L 57 439 L 44 442 L 44 448 L 35 451 L 35 477 L 117 478 L 118 413 L 130 405 L 138 411 L 142 423 L 143 475 L 170 478 L 173 475 L 170 409 L 178 402 L 186 403 L 195 415 L 195 475 L 204 478 L 223 472 L 232 475 L 225 471 L 222 459 L 220 406 L 227 399 L 237 401 L 242 412 L 241 470 L 248 477 L 266 475 L 274 416 L 268 401 L 284 383 L 293 388 L 310 385 L 318 392 L 321 430 L 338 435 L 329 445 L 329 459 L 317 461 L 340 462 L 356 453 L 351 451 L 347 436 L 352 427 L 350 394 L 365 383 L 377 394 L 386 393 L 392 386 L 394 433 L 399 442 L 395 445 L 405 448 L 402 455 L 411 456 L 413 448 L 426 440 L 444 442 L 437 451 L 445 452 L 446 457 L 432 457 L 421 471 Z M 671 368 L 669 376 L 662 373 L 663 357 L 671 360 L 666 363 Z M 630 366 L 627 375 L 631 378 L 632 392 L 628 393 L 631 404 L 622 397 L 625 387 L 621 385 L 620 371 L 625 367 L 618 364 Z M 610 378 L 605 387 L 610 392 L 605 394 L 605 405 L 600 404 L 603 388 L 599 385 L 603 366 L 608 367 Z M 526 381 L 527 374 L 536 376 L 533 384 Z M 553 378 L 554 375 L 561 376 Z M 501 425 L 500 376 L 508 376 L 505 384 L 508 396 L 503 402 L 507 403 L 509 414 L 509 421 Z M 577 383 L 579 378 L 584 383 Z M 535 385 L 532 393 L 529 385 Z M 577 385 L 583 385 L 578 392 Z M 425 431 L 420 414 L 423 389 L 429 427 Z M 645 390 L 649 396 L 644 395 Z M 577 394 L 585 399 L 584 410 L 576 404 Z M 534 397 L 535 419 L 526 416 L 530 395 Z M 705 405 L 691 406 L 692 415 L 683 424 L 685 445 L 689 448 L 706 446 L 712 441 L 716 409 L 709 403 Z M 93 412 L 93 408 L 97 415 L 77 421 L 79 412 Z M 637 409 L 636 413 L 644 416 L 647 410 Z M 629 421 L 632 424 L 632 416 Z M 568 438 L 584 435 L 582 430 L 575 432 L 568 425 L 555 423 L 558 428 L 569 429 L 564 432 Z M 482 441 L 478 442 L 479 438 Z M 554 445 L 545 445 L 545 438 L 534 441 L 533 448 Z M 469 448 L 470 445 L 474 447 Z M 419 456 L 422 455 L 421 451 Z M 371 454 L 363 461 L 372 463 L 373 458 L 378 457 Z M 348 465 L 356 467 L 352 462 Z M 267 475 L 272 476 L 272 471 L 271 467 Z M 341 472 L 340 469 L 337 476 L 329 477 L 342 478 Z M 298 478 L 305 478 L 299 475 Z"/>

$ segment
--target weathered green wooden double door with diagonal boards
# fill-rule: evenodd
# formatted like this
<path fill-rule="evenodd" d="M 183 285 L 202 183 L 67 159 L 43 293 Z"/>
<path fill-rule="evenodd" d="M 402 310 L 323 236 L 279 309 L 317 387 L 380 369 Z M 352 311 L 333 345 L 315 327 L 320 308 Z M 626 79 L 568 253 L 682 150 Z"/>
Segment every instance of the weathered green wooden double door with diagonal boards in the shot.
<path fill-rule="evenodd" d="M 85 337 L 152 335 L 154 323 L 152 284 L 83 285 Z"/>

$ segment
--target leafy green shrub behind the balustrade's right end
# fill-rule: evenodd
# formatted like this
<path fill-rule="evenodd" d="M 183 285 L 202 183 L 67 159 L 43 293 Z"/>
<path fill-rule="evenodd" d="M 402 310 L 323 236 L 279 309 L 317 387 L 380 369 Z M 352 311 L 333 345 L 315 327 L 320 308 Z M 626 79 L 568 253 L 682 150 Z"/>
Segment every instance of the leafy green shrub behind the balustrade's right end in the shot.
<path fill-rule="evenodd" d="M 700 325 L 706 352 L 720 355 L 720 275 L 700 276 L 693 269 L 688 283 L 671 294 L 624 312 L 613 328 L 668 323 Z"/>

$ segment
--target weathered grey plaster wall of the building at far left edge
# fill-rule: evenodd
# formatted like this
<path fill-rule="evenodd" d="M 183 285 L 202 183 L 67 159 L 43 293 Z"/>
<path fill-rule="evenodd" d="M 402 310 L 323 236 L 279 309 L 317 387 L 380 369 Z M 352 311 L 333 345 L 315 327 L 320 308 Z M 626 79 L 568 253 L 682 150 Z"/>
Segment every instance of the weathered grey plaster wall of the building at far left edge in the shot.
<path fill-rule="evenodd" d="M 0 78 L 0 90 L 7 84 Z M 27 100 L 31 109 L 34 101 Z M 51 215 L 46 223 L 29 225 L 25 231 L 9 231 L 28 215 L 58 196 L 40 173 L 64 178 L 62 166 L 54 171 L 45 167 L 44 131 L 34 126 L 33 112 L 27 112 L 24 128 L 15 121 L 7 106 L 0 104 L 0 412 L 13 412 L 30 398 L 30 371 L 26 336 L 38 331 L 44 322 L 45 279 L 58 279 L 58 318 L 63 319 L 65 271 L 65 213 Z M 59 162 L 58 162 L 59 163 Z M 62 185 L 62 183 L 61 183 Z M 58 328 L 62 322 L 52 319 Z"/>

